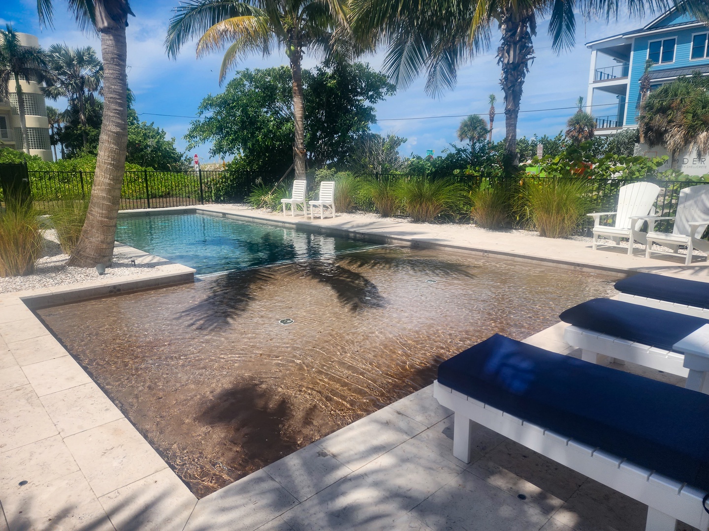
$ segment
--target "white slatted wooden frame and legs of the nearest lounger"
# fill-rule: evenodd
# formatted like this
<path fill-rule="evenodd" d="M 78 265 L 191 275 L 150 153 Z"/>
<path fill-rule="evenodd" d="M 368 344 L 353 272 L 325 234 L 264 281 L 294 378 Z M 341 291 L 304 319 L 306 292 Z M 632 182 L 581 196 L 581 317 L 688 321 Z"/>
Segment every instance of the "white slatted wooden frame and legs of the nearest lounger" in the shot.
<path fill-rule="evenodd" d="M 471 422 L 476 422 L 644 503 L 646 531 L 674 531 L 676 520 L 709 530 L 709 514 L 702 506 L 705 492 L 700 489 L 509 415 L 437 381 L 433 396 L 455 413 L 453 455 L 462 462 L 470 462 Z"/>

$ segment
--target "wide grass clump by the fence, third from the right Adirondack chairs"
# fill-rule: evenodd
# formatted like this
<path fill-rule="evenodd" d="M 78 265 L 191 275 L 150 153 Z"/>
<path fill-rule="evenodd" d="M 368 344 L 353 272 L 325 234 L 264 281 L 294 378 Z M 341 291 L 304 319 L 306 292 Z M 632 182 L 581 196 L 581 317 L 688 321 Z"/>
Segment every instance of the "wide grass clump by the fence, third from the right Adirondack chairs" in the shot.
<path fill-rule="evenodd" d="M 440 214 L 458 212 L 467 194 L 464 186 L 450 177 L 411 177 L 401 182 L 398 195 L 414 222 L 432 222 Z"/>

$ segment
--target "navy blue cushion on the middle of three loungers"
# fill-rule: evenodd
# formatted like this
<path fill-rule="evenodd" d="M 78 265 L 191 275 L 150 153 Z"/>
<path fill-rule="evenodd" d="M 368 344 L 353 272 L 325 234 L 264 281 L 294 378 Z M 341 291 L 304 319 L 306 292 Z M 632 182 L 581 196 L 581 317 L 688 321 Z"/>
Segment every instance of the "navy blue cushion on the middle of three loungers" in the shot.
<path fill-rule="evenodd" d="M 699 317 L 612 299 L 582 302 L 562 312 L 559 319 L 582 329 L 666 350 L 672 350 L 674 343 L 709 324 Z"/>

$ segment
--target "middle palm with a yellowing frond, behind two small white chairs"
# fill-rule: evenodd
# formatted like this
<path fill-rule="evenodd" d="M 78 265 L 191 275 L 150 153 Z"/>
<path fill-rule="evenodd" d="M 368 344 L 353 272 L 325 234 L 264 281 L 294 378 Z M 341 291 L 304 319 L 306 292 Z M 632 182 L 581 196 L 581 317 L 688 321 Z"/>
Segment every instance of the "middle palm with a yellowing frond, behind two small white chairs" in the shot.
<path fill-rule="evenodd" d="M 349 57 L 345 11 L 340 0 L 187 0 L 175 8 L 165 39 L 170 57 L 199 37 L 197 57 L 227 48 L 219 72 L 221 83 L 238 59 L 275 47 L 284 50 L 293 75 L 293 144 L 296 179 L 306 178 L 305 108 L 301 62 L 304 52 Z"/>

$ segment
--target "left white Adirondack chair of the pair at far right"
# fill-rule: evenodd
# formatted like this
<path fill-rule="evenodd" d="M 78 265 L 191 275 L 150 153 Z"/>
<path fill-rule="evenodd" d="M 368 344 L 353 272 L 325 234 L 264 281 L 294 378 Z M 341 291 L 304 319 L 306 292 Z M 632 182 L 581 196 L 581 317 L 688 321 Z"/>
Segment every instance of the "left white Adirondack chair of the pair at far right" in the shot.
<path fill-rule="evenodd" d="M 627 238 L 627 253 L 632 254 L 635 241 L 645 243 L 645 233 L 640 232 L 644 219 L 641 216 L 654 214 L 654 202 L 660 192 L 660 187 L 653 183 L 632 183 L 620 187 L 618 207 L 615 212 L 594 212 L 593 217 L 593 250 L 598 246 L 598 236 L 612 239 L 615 244 L 621 238 Z M 601 225 L 602 216 L 615 215 L 613 227 Z"/>

